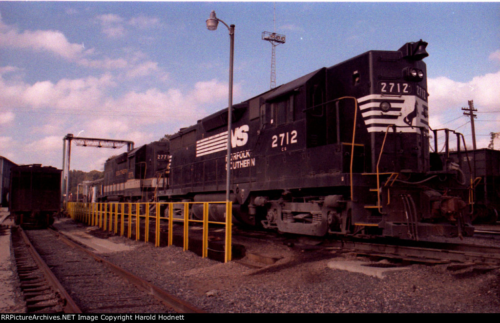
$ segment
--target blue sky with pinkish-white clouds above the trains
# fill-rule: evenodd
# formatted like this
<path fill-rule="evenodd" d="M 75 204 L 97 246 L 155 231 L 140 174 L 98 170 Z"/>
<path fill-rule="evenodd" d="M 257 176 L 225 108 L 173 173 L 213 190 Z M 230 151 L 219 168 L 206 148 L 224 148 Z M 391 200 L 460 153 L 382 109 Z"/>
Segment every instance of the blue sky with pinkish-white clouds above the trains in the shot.
<path fill-rule="evenodd" d="M 206 29 L 210 10 L 235 24 L 233 101 L 266 91 L 273 3 L 277 85 L 421 38 L 430 125 L 470 146 L 472 99 L 478 147 L 500 132 L 499 2 L 0 1 L 0 155 L 60 168 L 66 133 L 138 146 L 226 107 L 229 36 Z M 71 169 L 119 152 L 72 147 Z"/>

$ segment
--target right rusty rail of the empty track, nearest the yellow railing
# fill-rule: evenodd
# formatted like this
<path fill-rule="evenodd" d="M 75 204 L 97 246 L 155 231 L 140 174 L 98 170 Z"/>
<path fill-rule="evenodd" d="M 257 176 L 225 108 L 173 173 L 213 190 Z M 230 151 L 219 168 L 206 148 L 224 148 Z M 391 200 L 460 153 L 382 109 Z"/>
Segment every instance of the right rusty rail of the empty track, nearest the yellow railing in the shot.
<path fill-rule="evenodd" d="M 129 282 L 133 283 L 137 288 L 144 290 L 150 295 L 153 295 L 156 297 L 159 301 L 164 303 L 165 305 L 171 307 L 173 310 L 175 310 L 178 313 L 204 313 L 205 311 L 202 309 L 199 309 L 188 302 L 179 299 L 175 297 L 174 295 L 166 292 L 165 290 L 159 288 L 158 286 L 155 286 L 151 284 L 150 282 L 146 281 L 145 279 L 142 279 L 141 277 L 138 277 L 134 275 L 131 272 L 126 271 L 125 269 L 115 265 L 112 262 L 109 262 L 108 260 L 99 257 L 92 251 L 76 244 L 72 240 L 70 240 L 67 236 L 65 236 L 63 233 L 55 231 L 53 229 L 49 229 L 53 234 L 55 234 L 57 237 L 59 237 L 64 243 L 78 248 L 81 251 L 87 253 L 88 255 L 92 256 L 96 261 L 99 261 L 105 265 L 107 265 L 113 272 L 121 276 L 122 278 L 128 280 Z"/>

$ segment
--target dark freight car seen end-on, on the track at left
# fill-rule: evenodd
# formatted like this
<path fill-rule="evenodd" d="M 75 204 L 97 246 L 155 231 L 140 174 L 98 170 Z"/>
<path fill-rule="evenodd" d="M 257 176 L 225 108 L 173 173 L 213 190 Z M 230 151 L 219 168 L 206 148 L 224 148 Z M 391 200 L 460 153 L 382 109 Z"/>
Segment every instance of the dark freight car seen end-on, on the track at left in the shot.
<path fill-rule="evenodd" d="M 60 210 L 61 170 L 41 164 L 21 165 L 10 170 L 10 214 L 15 223 L 42 228 L 53 223 Z"/>

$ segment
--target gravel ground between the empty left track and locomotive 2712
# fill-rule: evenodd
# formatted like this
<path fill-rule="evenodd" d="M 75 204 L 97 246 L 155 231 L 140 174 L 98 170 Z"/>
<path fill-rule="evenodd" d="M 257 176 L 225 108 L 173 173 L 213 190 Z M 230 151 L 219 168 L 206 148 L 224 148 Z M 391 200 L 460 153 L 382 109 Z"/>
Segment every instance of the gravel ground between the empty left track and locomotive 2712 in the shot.
<path fill-rule="evenodd" d="M 134 248 L 106 253 L 106 259 L 208 312 L 500 312 L 498 268 L 411 264 L 376 278 L 329 268 L 331 261 L 357 259 L 338 250 L 246 241 L 247 251 L 280 257 L 256 268 L 248 259 L 242 259 L 246 265 L 221 263 L 177 246 L 112 239 Z"/>

